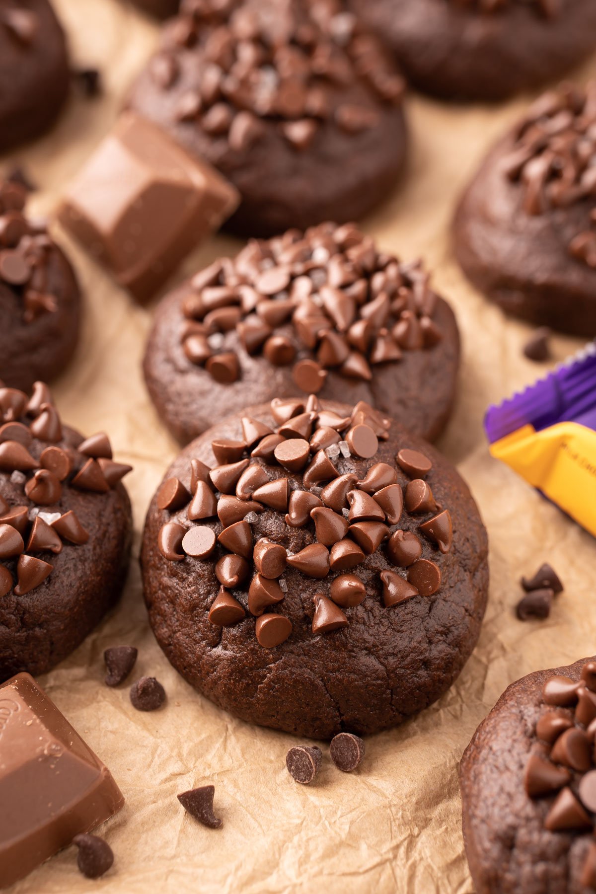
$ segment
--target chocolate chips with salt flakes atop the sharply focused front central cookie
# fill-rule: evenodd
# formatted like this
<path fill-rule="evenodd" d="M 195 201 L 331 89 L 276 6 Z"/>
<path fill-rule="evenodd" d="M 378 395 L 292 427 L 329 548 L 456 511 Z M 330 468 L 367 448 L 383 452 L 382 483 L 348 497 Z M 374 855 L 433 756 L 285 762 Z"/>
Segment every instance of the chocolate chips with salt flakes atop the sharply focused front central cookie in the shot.
<path fill-rule="evenodd" d="M 340 417 L 323 409 L 315 395 L 306 403 L 274 400 L 271 410 L 277 432 L 245 417 L 244 441 L 212 442 L 218 465 L 191 460 L 189 478 L 167 478 L 155 497 L 162 519 L 157 546 L 164 559 L 213 563 L 221 586 L 208 610 L 210 622 L 221 628 L 252 623 L 260 645 L 281 645 L 292 634 L 284 611 L 287 572 L 321 582 L 307 611 L 315 636 L 347 633 L 353 611 L 366 598 L 382 599 L 396 611 L 410 599 L 437 593 L 441 556 L 452 546 L 449 510 L 437 511 L 423 479 L 404 487 L 398 458 L 392 465 L 376 460 L 390 420 L 363 401 Z M 323 429 L 335 432 L 337 443 L 313 448 Z M 272 438 L 273 450 L 259 449 Z M 402 461 L 405 452 L 400 451 Z M 430 472 L 429 461 L 417 456 L 408 468 Z M 398 527 L 406 521 L 420 528 L 421 537 Z M 256 522 L 259 534 L 253 531 Z M 289 543 L 296 542 L 298 528 L 298 543 L 305 545 L 292 552 Z M 381 566 L 377 552 L 383 553 Z M 363 563 L 367 579 L 374 569 L 373 590 L 358 575 Z"/>

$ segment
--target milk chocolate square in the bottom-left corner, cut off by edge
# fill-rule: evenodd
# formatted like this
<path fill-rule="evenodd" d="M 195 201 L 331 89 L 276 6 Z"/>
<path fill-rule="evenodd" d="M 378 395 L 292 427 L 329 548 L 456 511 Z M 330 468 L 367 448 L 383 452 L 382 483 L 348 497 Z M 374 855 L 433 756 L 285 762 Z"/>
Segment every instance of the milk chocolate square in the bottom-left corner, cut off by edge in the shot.
<path fill-rule="evenodd" d="M 28 673 L 0 684 L 0 888 L 123 803 L 110 772 Z"/>

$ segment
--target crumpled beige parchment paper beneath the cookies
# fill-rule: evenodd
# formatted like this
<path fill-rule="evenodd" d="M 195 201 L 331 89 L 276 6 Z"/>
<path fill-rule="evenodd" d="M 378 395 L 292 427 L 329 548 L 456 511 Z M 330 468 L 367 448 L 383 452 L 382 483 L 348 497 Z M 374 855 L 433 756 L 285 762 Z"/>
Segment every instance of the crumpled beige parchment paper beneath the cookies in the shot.
<path fill-rule="evenodd" d="M 41 188 L 32 203 L 40 212 L 51 211 L 63 183 L 110 128 L 157 33 L 123 0 L 55 5 L 76 62 L 101 69 L 105 96 L 73 98 L 50 136 L 13 156 Z M 592 68 L 596 72 L 596 64 Z M 579 74 L 587 75 L 587 69 Z M 86 313 L 76 359 L 55 383 L 55 399 L 66 421 L 86 434 L 105 429 L 116 458 L 134 464 L 126 482 L 136 536 L 122 603 L 40 682 L 110 767 L 126 805 L 101 829 L 115 854 L 103 879 L 85 880 L 70 848 L 14 886 L 13 894 L 473 890 L 457 785 L 467 742 L 509 682 L 595 649 L 596 542 L 491 460 L 483 437 L 487 406 L 541 375 L 542 367 L 521 354 L 529 329 L 475 294 L 449 253 L 458 191 L 523 106 L 458 108 L 409 97 L 407 175 L 363 223 L 384 249 L 404 258 L 423 255 L 437 288 L 456 309 L 464 356 L 457 408 L 439 447 L 466 477 L 489 529 L 491 596 L 480 642 L 457 684 L 416 721 L 369 738 L 365 762 L 353 774 L 337 771 L 325 754 L 315 784 L 296 785 L 284 763 L 295 740 L 219 711 L 172 670 L 155 644 L 139 586 L 139 537 L 147 503 L 177 447 L 155 416 L 140 374 L 152 310 L 135 306 L 69 246 Z M 218 236 L 189 258 L 185 270 L 238 248 L 238 241 Z M 580 344 L 558 337 L 557 358 Z M 566 591 L 549 620 L 522 624 L 512 613 L 518 578 L 546 560 L 559 570 Z M 139 647 L 135 679 L 150 674 L 164 684 L 163 710 L 139 713 L 126 685 L 103 685 L 103 651 L 122 643 Z M 192 821 L 175 797 L 207 783 L 215 785 L 222 831 Z"/>

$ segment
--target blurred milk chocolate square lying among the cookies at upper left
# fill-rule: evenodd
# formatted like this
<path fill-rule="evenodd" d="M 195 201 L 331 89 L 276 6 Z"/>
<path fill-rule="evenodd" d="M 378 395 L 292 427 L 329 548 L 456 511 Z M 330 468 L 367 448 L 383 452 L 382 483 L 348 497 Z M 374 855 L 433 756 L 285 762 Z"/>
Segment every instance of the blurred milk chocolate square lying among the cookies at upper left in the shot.
<path fill-rule="evenodd" d="M 238 202 L 210 164 L 125 112 L 72 181 L 58 219 L 145 301 Z"/>

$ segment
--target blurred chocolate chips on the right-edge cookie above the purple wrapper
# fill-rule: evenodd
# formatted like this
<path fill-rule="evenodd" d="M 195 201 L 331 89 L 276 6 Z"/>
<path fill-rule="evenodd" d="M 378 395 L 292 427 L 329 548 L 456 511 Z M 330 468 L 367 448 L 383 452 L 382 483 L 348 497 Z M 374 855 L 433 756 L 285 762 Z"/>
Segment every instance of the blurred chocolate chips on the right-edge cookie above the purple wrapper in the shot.
<path fill-rule="evenodd" d="M 585 88 L 564 84 L 531 106 L 503 160 L 505 175 L 520 186 L 526 214 L 571 205 L 584 209 L 584 229 L 570 241 L 569 252 L 591 267 L 596 267 L 594 122 L 596 81 Z"/>

